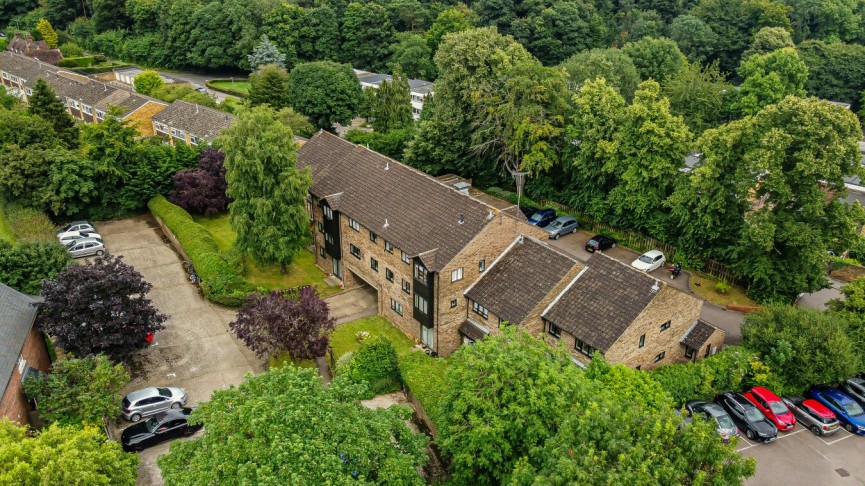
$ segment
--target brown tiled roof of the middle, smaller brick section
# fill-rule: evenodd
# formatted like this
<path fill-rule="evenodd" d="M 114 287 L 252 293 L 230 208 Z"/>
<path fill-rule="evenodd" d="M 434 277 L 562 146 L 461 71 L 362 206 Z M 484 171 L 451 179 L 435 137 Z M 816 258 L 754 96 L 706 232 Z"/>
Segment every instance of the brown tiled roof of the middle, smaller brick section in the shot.
<path fill-rule="evenodd" d="M 519 236 L 466 291 L 466 297 L 519 324 L 575 265 L 582 266 L 534 238 Z"/>

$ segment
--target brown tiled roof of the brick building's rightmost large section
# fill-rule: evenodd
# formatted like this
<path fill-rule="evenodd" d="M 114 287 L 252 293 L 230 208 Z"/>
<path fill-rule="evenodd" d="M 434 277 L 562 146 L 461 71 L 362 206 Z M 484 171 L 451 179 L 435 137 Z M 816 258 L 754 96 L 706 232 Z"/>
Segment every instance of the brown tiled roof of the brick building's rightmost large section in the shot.
<path fill-rule="evenodd" d="M 665 283 L 595 253 L 544 312 L 544 319 L 605 352 L 649 305 Z"/>

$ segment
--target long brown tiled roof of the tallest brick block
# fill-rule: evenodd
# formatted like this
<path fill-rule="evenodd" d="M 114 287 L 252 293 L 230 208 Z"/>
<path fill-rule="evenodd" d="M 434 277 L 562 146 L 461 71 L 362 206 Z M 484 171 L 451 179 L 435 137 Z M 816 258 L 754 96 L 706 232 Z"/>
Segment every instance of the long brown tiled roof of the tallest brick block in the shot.
<path fill-rule="evenodd" d="M 424 265 L 441 270 L 492 219 L 493 209 L 423 172 L 321 132 L 298 150 L 310 192 Z M 336 199 L 333 196 L 339 194 Z M 328 197 L 330 196 L 330 197 Z M 462 222 L 460 222 L 462 218 Z M 429 263 L 428 263 L 429 261 Z"/>

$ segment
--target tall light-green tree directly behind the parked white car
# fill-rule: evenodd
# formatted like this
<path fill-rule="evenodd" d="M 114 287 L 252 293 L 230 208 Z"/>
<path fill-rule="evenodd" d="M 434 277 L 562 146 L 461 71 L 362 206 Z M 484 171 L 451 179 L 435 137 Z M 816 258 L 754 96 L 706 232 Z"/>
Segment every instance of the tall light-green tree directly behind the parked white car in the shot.
<path fill-rule="evenodd" d="M 640 83 L 615 136 L 616 157 L 608 164 L 616 177 L 608 197 L 614 224 L 664 235 L 664 203 L 681 174 L 691 137 L 682 118 L 670 113 L 658 83 Z"/>

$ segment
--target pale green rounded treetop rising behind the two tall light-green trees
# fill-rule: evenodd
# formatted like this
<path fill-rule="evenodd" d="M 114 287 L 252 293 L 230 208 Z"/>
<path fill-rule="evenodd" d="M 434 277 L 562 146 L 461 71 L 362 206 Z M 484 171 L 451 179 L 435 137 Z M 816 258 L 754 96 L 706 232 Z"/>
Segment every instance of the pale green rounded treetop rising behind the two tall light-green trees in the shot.
<path fill-rule="evenodd" d="M 634 98 L 640 75 L 634 62 L 619 49 L 590 49 L 562 63 L 570 82 L 580 86 L 588 80 L 604 78 L 626 101 Z"/>

